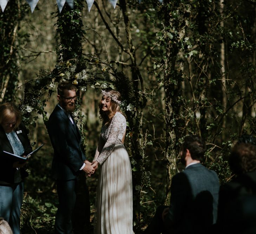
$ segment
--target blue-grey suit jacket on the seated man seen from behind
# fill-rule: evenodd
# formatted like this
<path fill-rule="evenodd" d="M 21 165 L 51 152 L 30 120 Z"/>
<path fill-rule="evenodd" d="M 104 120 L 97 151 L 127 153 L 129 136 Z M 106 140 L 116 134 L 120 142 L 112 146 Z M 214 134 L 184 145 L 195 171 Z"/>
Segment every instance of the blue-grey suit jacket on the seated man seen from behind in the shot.
<path fill-rule="evenodd" d="M 217 220 L 219 180 L 201 163 L 173 176 L 165 223 L 170 233 L 205 233 Z"/>

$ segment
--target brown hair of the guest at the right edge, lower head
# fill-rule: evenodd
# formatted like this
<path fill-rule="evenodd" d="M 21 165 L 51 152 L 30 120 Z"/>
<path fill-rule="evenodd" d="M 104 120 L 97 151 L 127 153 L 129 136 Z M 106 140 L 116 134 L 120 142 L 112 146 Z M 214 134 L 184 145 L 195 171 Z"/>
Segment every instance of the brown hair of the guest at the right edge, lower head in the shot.
<path fill-rule="evenodd" d="M 256 171 L 256 146 L 237 142 L 229 156 L 229 166 L 235 174 Z"/>

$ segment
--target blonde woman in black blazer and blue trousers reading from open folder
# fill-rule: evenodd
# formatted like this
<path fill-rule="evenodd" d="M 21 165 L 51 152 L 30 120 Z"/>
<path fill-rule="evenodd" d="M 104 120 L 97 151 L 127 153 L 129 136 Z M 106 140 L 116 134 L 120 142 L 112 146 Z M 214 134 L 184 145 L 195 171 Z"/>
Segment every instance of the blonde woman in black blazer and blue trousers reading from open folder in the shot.
<path fill-rule="evenodd" d="M 2 151 L 16 155 L 32 152 L 28 132 L 21 123 L 21 114 L 13 103 L 0 105 L 0 216 L 20 234 L 20 208 L 23 200 L 24 178 L 28 173 L 19 163 Z"/>

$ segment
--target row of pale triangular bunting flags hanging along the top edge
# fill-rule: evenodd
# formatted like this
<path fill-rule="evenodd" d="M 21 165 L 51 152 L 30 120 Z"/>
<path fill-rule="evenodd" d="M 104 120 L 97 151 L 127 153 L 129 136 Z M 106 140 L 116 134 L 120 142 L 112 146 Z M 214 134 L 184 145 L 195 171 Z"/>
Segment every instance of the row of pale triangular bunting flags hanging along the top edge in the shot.
<path fill-rule="evenodd" d="M 9 0 L 0 0 L 0 6 L 2 8 L 2 12 L 4 12 L 5 10 L 5 7 L 7 5 Z M 30 8 L 31 8 L 31 12 L 33 13 L 35 7 L 37 6 L 37 3 L 39 0 L 26 0 L 27 3 L 29 4 Z M 117 0 L 109 0 L 110 1 L 110 4 L 116 8 L 116 5 L 117 5 Z M 138 0 L 139 1 L 139 4 L 142 0 Z M 163 0 L 158 0 L 160 3 L 163 3 Z M 67 2 L 68 6 L 70 6 L 72 9 L 74 8 L 74 0 L 56 0 L 57 2 L 57 5 L 58 5 L 58 8 L 59 8 L 59 12 L 62 11 L 62 8 L 65 4 L 65 2 Z M 93 2 L 94 0 L 86 0 L 87 2 L 87 6 L 88 6 L 88 11 L 90 12 L 91 8 L 92 8 L 92 5 L 93 5 Z"/>

